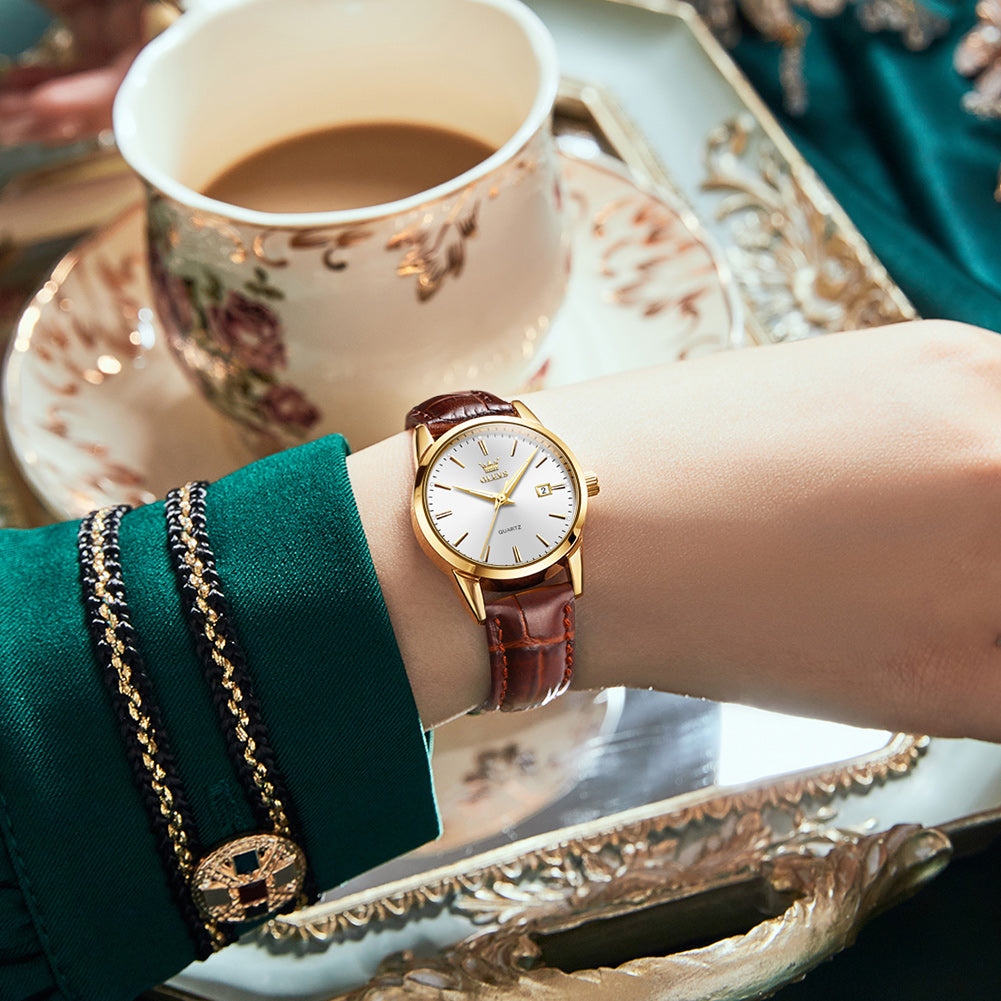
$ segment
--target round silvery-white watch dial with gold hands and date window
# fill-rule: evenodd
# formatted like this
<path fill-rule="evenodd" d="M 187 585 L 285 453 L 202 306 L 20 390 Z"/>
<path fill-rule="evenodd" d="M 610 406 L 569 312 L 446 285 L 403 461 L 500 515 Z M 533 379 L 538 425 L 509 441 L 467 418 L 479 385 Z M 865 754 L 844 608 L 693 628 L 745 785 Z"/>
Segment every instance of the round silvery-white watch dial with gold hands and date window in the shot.
<path fill-rule="evenodd" d="M 521 567 L 564 542 L 580 508 L 578 490 L 551 438 L 498 421 L 450 441 L 423 492 L 428 521 L 450 550 L 489 567 Z"/>

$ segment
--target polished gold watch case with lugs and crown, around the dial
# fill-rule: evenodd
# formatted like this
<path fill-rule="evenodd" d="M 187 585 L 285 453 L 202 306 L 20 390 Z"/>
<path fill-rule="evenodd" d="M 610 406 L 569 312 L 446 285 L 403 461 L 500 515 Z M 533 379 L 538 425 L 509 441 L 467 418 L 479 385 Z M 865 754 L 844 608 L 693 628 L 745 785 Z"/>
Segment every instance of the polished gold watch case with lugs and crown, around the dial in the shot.
<path fill-rule="evenodd" d="M 588 497 L 598 492 L 598 480 L 593 475 L 585 473 L 577 456 L 567 443 L 557 434 L 554 434 L 542 421 L 525 405 L 521 400 L 512 400 L 518 416 L 509 414 L 490 414 L 483 417 L 474 417 L 456 424 L 451 430 L 442 434 L 436 440 L 431 437 L 430 431 L 424 424 L 417 424 L 413 435 L 413 455 L 416 463 L 416 475 L 413 480 L 413 499 L 410 507 L 410 516 L 413 523 L 413 532 L 417 537 L 417 542 L 430 560 L 442 571 L 452 575 L 455 587 L 462 596 L 469 613 L 478 623 L 482 623 L 486 618 L 486 611 L 483 605 L 482 581 L 497 581 L 505 584 L 513 584 L 522 580 L 538 578 L 545 574 L 551 567 L 563 564 L 567 568 L 567 573 L 571 584 L 574 587 L 574 594 L 578 597 L 584 591 L 584 568 L 581 562 L 581 531 L 584 528 L 585 518 L 588 514 Z M 579 497 L 577 516 L 571 526 L 566 538 L 539 560 L 532 563 L 522 564 L 517 567 L 496 567 L 474 560 L 468 560 L 447 547 L 438 537 L 431 527 L 430 516 L 427 512 L 426 483 L 429 470 L 434 465 L 438 456 L 446 450 L 451 442 L 469 430 L 486 424 L 513 424 L 525 427 L 536 433 L 541 433 L 549 438 L 557 448 L 567 457 L 569 471 L 574 479 L 574 486 Z"/>

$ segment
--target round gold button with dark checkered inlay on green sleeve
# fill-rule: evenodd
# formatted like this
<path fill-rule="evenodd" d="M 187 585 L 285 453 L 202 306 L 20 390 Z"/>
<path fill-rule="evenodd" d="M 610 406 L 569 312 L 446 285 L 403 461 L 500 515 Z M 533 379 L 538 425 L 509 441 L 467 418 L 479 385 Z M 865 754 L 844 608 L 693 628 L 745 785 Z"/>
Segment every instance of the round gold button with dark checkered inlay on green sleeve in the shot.
<path fill-rule="evenodd" d="M 295 900 L 306 860 L 294 841 L 248 834 L 220 845 L 198 863 L 191 893 L 204 917 L 238 923 L 274 914 Z"/>

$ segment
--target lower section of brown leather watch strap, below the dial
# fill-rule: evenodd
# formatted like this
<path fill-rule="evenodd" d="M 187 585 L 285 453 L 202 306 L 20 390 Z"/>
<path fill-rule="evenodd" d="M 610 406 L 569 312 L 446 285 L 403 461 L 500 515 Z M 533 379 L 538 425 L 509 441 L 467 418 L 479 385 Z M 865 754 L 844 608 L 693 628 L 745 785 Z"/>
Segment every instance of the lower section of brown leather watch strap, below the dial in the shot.
<path fill-rule="evenodd" d="M 486 603 L 490 694 L 479 712 L 535 709 L 574 675 L 574 589 L 543 584 Z"/>

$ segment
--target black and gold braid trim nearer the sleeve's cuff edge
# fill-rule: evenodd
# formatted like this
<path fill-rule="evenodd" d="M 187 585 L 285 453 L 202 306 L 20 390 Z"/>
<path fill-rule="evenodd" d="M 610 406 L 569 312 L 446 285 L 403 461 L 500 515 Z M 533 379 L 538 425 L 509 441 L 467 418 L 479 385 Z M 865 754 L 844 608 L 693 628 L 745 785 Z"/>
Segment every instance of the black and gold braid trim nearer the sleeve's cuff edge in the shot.
<path fill-rule="evenodd" d="M 274 833 L 291 838 L 290 825 L 271 780 L 267 776 L 267 767 L 257 757 L 257 744 L 247 732 L 250 718 L 243 708 L 243 693 L 239 685 L 233 681 L 233 664 L 226 655 L 226 638 L 216 630 L 219 621 L 218 613 L 208 604 L 211 589 L 205 581 L 205 568 L 198 556 L 198 541 L 195 538 L 195 528 L 191 521 L 191 483 L 185 483 L 179 490 L 181 542 L 186 550 L 184 564 L 188 568 L 188 584 L 197 593 L 195 604 L 201 613 L 202 632 L 212 648 L 212 660 L 222 671 L 220 680 L 226 690 L 226 709 L 236 721 L 234 732 L 240 743 L 243 759 L 250 766 L 254 785 L 260 791 L 261 799 L 267 807 L 268 815 L 274 824 Z"/>

